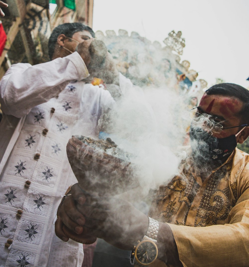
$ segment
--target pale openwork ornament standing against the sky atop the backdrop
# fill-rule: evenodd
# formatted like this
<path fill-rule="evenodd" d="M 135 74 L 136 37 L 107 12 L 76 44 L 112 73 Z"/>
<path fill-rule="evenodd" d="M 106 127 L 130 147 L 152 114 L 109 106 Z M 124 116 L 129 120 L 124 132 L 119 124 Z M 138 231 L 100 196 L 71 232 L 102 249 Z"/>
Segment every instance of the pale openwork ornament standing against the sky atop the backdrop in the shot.
<path fill-rule="evenodd" d="M 182 55 L 183 48 L 185 47 L 185 39 L 181 37 L 182 32 L 179 31 L 175 33 L 175 31 L 172 30 L 168 35 L 169 36 L 164 39 L 165 45 L 178 55 Z"/>

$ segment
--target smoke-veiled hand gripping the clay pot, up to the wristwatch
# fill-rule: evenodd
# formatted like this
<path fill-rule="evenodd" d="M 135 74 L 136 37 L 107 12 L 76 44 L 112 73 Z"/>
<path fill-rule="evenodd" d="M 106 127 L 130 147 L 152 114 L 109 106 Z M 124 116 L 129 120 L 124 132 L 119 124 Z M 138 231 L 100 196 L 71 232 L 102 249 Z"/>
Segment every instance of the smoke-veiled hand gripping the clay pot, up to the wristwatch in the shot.
<path fill-rule="evenodd" d="M 121 249 L 133 249 L 137 241 L 144 237 L 149 219 L 128 201 L 94 198 L 83 194 L 78 184 L 71 187 L 71 193 L 58 211 L 55 231 L 61 239 L 63 231 L 60 220 L 77 234 L 102 238 Z M 77 209 L 72 198 L 77 201 Z"/>

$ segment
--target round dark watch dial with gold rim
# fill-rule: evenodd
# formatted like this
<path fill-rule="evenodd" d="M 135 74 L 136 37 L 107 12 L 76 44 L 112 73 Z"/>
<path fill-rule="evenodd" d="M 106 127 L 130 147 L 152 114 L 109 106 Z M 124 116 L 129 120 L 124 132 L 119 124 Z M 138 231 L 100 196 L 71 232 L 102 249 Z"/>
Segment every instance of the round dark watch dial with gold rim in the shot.
<path fill-rule="evenodd" d="M 156 260 L 157 253 L 157 246 L 152 240 L 143 240 L 136 246 L 135 257 L 140 264 L 148 265 Z"/>

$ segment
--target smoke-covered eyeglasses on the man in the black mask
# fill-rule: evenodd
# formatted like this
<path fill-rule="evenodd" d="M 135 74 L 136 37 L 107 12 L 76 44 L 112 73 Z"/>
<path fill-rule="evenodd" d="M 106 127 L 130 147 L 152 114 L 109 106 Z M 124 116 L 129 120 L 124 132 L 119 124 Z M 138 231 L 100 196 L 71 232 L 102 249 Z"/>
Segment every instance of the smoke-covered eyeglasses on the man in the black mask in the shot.
<path fill-rule="evenodd" d="M 247 124 L 241 124 L 241 125 L 237 125 L 237 126 L 232 126 L 232 127 L 226 127 L 224 128 L 222 123 L 224 122 L 224 120 L 221 120 L 221 118 L 219 118 L 218 116 L 214 116 L 205 112 L 202 112 L 202 110 L 199 107 L 195 107 L 198 109 L 197 112 L 195 112 L 195 116 L 192 118 L 195 123 L 200 124 L 200 126 L 205 125 L 205 127 L 207 127 L 207 129 L 214 131 L 216 133 L 221 133 L 223 130 L 226 129 L 232 129 L 232 128 L 237 128 L 237 127 L 246 127 Z M 193 111 L 192 108 L 189 111 Z M 220 121 L 217 121 L 220 120 Z"/>

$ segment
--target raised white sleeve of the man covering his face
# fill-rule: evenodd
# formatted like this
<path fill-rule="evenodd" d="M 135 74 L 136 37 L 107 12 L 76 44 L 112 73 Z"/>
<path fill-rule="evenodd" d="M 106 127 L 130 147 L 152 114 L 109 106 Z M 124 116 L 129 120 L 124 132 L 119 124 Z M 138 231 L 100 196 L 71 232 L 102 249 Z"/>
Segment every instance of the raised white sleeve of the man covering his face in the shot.
<path fill-rule="evenodd" d="M 77 52 L 34 66 L 12 65 L 0 83 L 1 109 L 7 115 L 21 118 L 32 107 L 57 96 L 70 81 L 88 76 L 87 67 Z"/>

